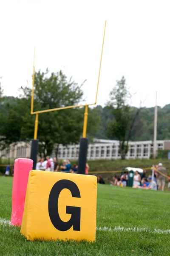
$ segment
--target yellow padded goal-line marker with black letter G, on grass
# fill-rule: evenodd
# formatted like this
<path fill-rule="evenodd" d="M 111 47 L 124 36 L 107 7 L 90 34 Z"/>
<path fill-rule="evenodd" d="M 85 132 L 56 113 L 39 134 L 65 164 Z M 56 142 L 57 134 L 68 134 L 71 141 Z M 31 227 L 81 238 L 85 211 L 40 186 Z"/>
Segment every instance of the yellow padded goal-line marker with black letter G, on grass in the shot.
<path fill-rule="evenodd" d="M 96 200 L 95 176 L 30 171 L 21 234 L 28 240 L 95 241 Z"/>

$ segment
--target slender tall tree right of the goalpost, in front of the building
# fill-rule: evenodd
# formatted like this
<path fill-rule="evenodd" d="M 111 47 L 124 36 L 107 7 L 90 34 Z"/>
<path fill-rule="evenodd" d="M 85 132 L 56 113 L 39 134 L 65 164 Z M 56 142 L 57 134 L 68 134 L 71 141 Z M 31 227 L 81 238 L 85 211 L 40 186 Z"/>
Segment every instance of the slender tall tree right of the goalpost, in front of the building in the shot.
<path fill-rule="evenodd" d="M 124 76 L 120 81 L 116 81 L 108 102 L 108 109 L 113 114 L 113 120 L 108 125 L 108 135 L 119 140 L 122 159 L 126 157 L 133 127 L 141 110 L 141 108 L 130 108 L 131 95 L 125 82 Z"/>

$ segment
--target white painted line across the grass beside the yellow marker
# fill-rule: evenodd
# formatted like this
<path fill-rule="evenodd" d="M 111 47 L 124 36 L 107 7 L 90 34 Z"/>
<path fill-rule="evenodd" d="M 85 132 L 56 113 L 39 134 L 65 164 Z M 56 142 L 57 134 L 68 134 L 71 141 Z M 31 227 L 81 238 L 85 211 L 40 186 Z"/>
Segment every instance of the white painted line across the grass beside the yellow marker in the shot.
<path fill-rule="evenodd" d="M 6 220 L 3 218 L 0 218 L 0 224 L 5 224 L 5 225 L 10 225 L 11 221 Z M 109 231 L 109 232 L 118 232 L 118 231 L 123 231 L 123 232 L 147 232 L 147 233 L 157 233 L 157 234 L 170 234 L 170 230 L 160 230 L 160 229 L 154 229 L 151 230 L 147 227 L 144 228 L 138 228 L 138 227 L 96 227 L 96 230 L 101 230 L 101 231 Z"/>

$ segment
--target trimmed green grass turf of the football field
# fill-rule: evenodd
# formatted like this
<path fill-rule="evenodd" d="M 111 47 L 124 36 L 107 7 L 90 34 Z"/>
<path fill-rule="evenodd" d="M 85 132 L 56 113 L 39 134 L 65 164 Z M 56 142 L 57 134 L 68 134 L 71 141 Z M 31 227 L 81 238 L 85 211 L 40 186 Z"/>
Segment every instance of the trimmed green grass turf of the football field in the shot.
<path fill-rule="evenodd" d="M 11 218 L 12 177 L 0 177 L 0 218 Z M 98 185 L 96 242 L 27 241 L 20 229 L 0 224 L 0 255 L 170 255 L 170 193 Z M 147 230 L 115 230 L 147 228 Z M 133 250 L 133 251 L 132 251 Z"/>

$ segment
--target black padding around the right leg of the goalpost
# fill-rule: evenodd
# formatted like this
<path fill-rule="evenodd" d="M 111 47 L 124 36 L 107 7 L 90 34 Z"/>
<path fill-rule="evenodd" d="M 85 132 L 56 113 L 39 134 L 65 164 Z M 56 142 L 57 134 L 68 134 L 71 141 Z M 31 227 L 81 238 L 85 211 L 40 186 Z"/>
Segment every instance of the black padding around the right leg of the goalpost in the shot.
<path fill-rule="evenodd" d="M 81 138 L 79 145 L 79 161 L 78 161 L 78 174 L 85 174 L 85 165 L 87 161 L 88 152 L 88 139 Z"/>

